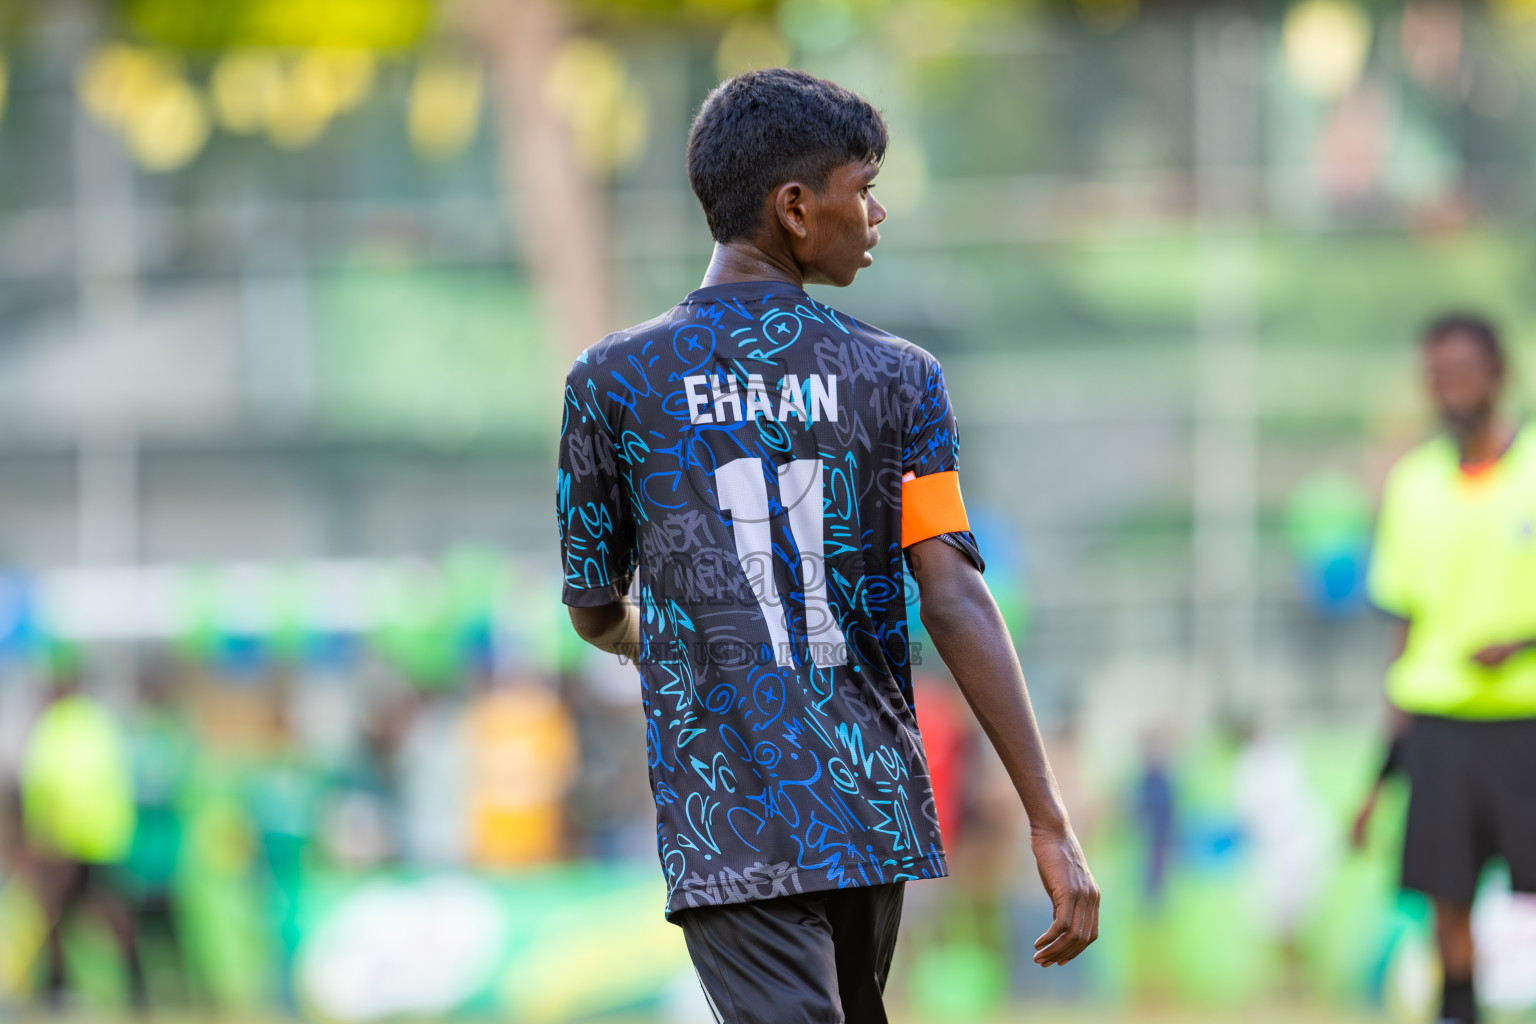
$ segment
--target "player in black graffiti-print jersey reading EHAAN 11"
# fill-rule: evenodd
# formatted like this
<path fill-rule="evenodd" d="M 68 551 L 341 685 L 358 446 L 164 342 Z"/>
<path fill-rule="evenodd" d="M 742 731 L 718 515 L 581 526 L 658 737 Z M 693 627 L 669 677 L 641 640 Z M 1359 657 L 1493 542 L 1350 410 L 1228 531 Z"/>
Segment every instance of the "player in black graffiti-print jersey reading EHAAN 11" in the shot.
<path fill-rule="evenodd" d="M 564 602 L 639 665 L 667 915 L 733 1024 L 885 1021 L 903 883 L 945 874 L 903 554 L 1029 815 L 1054 906 L 1035 961 L 1098 933 L 982 580 L 943 373 L 802 287 L 872 263 L 886 137 L 866 100 L 803 72 L 716 88 L 688 138 L 716 241 L 703 286 L 565 382 Z"/>

